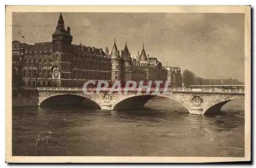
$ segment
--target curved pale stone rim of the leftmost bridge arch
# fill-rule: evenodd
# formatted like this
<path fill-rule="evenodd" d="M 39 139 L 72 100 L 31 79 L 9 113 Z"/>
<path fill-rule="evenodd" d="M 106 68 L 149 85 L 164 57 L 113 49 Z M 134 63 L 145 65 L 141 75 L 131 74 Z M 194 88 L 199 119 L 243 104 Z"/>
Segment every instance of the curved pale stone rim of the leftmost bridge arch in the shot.
<path fill-rule="evenodd" d="M 38 106 L 40 106 L 42 102 L 48 100 L 49 98 L 55 97 L 55 96 L 78 96 L 80 98 L 87 98 L 87 99 L 95 102 L 100 107 L 100 109 L 102 109 L 101 102 L 97 98 L 92 97 L 90 95 L 80 93 L 80 92 L 48 92 L 48 93 L 43 93 L 43 94 L 41 94 L 39 92 Z"/>

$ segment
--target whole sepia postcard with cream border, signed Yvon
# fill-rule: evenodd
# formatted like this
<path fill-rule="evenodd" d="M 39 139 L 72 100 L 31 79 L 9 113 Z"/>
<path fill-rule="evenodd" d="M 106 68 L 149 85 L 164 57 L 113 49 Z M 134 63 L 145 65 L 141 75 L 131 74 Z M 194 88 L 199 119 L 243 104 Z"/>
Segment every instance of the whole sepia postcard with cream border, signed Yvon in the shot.
<path fill-rule="evenodd" d="M 249 161 L 250 17 L 8 6 L 6 161 Z"/>

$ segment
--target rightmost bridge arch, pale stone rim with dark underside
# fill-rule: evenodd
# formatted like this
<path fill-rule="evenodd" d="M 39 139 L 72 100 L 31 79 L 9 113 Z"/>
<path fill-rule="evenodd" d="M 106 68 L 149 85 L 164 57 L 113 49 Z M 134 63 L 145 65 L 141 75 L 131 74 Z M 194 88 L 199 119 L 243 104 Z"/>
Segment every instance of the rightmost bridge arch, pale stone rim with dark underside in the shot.
<path fill-rule="evenodd" d="M 244 95 L 239 96 L 229 96 L 222 99 L 217 99 L 203 106 L 203 114 L 202 115 L 211 115 L 216 114 L 216 111 L 220 111 L 221 107 L 223 107 L 227 102 L 231 100 L 244 99 Z"/>

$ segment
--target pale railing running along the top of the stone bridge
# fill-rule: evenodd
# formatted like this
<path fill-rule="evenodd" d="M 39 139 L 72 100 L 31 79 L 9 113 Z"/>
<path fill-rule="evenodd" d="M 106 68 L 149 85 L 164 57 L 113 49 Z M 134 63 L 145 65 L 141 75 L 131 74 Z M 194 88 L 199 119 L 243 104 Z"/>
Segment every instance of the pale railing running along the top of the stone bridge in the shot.
<path fill-rule="evenodd" d="M 83 91 L 83 88 L 37 88 L 37 90 L 53 90 L 53 91 Z M 87 88 L 87 91 L 96 91 L 97 88 Z M 111 88 L 107 89 L 101 89 L 100 91 L 108 92 Z M 135 88 L 134 90 L 128 90 L 128 92 L 138 92 L 138 88 Z M 147 88 L 142 88 L 141 91 L 146 91 Z M 114 91 L 118 91 L 115 89 Z M 121 88 L 120 91 L 124 91 L 124 88 Z M 156 88 L 151 88 L 150 92 L 156 91 Z M 188 88 L 167 88 L 167 90 L 164 90 L 164 88 L 159 88 L 158 92 L 217 92 L 217 93 L 244 93 L 243 89 L 240 90 L 231 90 L 231 89 L 188 89 Z"/>

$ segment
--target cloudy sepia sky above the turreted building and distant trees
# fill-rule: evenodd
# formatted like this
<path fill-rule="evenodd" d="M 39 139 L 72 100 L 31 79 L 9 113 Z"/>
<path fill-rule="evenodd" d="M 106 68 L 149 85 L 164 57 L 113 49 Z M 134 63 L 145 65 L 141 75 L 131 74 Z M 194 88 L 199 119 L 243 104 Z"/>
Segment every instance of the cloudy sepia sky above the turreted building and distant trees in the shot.
<path fill-rule="evenodd" d="M 52 41 L 60 13 L 13 13 L 12 39 Z M 109 47 L 125 41 L 136 58 L 146 54 L 203 78 L 244 82 L 244 14 L 239 13 L 62 13 L 73 44 Z"/>

